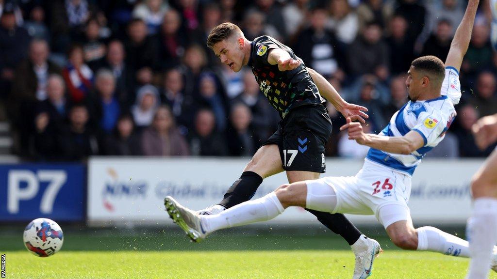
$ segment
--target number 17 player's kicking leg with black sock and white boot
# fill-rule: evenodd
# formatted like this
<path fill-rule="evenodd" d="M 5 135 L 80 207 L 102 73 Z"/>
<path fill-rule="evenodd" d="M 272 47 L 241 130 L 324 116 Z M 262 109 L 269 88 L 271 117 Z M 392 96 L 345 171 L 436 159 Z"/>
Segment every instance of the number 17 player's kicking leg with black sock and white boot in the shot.
<path fill-rule="evenodd" d="M 278 132 L 271 136 L 271 138 L 275 137 L 279 137 Z M 271 138 L 269 140 L 271 140 Z M 235 181 L 226 194 L 224 194 L 223 200 L 218 205 L 199 210 L 197 213 L 204 215 L 217 214 L 224 209 L 248 201 L 253 197 L 264 178 L 282 171 L 283 166 L 278 145 L 263 145 L 255 152 L 252 159 L 248 162 L 240 179 Z"/>

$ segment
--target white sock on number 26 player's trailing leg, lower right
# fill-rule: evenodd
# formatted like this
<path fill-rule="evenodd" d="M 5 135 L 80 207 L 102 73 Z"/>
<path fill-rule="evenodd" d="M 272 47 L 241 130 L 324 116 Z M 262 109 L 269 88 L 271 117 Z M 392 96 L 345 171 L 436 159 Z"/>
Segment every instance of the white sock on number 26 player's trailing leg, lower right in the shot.
<path fill-rule="evenodd" d="M 468 241 L 434 227 L 420 227 L 417 231 L 417 250 L 445 255 L 469 257 Z"/>

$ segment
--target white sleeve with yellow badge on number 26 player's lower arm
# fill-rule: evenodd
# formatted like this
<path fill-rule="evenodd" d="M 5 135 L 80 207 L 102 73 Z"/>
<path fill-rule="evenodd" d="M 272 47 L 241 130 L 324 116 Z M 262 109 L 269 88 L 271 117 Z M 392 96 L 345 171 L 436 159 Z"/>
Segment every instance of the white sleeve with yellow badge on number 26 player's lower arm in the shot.
<path fill-rule="evenodd" d="M 413 131 L 416 131 L 423 137 L 424 145 L 435 146 L 440 140 L 440 135 L 447 127 L 447 120 L 438 110 L 431 112 L 422 112 L 417 118 Z"/>

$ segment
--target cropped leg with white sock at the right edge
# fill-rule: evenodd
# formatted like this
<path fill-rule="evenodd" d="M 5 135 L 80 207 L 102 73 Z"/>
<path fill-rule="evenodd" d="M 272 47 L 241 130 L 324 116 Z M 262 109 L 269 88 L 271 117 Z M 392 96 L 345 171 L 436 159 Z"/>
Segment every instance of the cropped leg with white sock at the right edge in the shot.
<path fill-rule="evenodd" d="M 468 220 L 471 263 L 467 279 L 488 278 L 491 266 L 497 271 L 493 247 L 497 242 L 497 151 L 473 176 L 471 191 L 475 199 L 473 216 Z M 494 259 L 494 261 L 493 261 Z"/>

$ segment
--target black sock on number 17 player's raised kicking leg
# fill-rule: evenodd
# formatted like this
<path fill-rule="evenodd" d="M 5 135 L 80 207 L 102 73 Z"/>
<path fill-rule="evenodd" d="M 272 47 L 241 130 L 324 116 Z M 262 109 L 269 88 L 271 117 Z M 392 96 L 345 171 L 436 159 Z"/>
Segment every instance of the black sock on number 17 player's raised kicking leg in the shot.
<path fill-rule="evenodd" d="M 219 205 L 229 209 L 250 200 L 262 183 L 262 177 L 252 171 L 244 171 L 240 179 L 231 185 Z"/>

